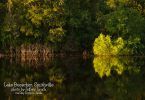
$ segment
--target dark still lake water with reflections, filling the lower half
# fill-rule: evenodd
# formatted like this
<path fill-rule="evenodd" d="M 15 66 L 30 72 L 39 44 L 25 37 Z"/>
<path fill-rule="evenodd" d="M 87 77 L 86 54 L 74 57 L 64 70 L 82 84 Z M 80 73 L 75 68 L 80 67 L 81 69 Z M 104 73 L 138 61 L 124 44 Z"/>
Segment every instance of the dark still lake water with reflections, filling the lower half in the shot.
<path fill-rule="evenodd" d="M 50 86 L 16 94 L 16 83 Z M 145 100 L 145 58 L 1 58 L 0 100 Z"/>

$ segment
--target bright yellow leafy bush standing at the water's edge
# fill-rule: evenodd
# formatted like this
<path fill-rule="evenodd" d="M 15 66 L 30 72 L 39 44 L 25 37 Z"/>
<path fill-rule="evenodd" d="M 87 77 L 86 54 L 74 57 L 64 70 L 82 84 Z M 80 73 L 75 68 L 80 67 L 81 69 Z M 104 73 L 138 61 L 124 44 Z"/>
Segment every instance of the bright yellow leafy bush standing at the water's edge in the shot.
<path fill-rule="evenodd" d="M 105 36 L 101 33 L 95 39 L 93 52 L 95 55 L 120 55 L 124 44 L 125 42 L 121 37 L 112 42 L 109 35 Z"/>

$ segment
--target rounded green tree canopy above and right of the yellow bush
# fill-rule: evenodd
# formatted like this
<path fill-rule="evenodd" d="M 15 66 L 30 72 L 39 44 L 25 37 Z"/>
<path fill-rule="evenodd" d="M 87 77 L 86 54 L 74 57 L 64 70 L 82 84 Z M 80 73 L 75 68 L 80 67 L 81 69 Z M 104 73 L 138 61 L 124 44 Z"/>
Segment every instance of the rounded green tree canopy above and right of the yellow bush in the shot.
<path fill-rule="evenodd" d="M 140 36 L 145 32 L 145 19 L 134 9 L 120 9 L 107 15 L 105 28 L 114 36 Z"/>

